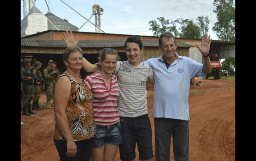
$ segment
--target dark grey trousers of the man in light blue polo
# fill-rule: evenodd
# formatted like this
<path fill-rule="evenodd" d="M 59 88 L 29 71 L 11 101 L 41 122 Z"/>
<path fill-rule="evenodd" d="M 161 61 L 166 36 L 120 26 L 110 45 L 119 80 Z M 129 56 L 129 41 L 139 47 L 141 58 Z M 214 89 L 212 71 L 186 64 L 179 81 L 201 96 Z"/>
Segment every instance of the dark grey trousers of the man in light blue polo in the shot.
<path fill-rule="evenodd" d="M 154 118 L 156 161 L 170 161 L 171 138 L 175 161 L 189 161 L 189 121 Z"/>

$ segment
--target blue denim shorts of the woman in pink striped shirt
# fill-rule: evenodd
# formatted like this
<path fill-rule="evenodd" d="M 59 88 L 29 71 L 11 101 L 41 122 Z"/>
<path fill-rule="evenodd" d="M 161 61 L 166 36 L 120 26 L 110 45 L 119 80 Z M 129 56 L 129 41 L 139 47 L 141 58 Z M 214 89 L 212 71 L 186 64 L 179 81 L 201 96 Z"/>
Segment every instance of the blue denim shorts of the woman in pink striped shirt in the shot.
<path fill-rule="evenodd" d="M 97 134 L 94 137 L 92 147 L 99 148 L 107 144 L 119 145 L 122 141 L 120 122 L 112 125 L 96 124 Z"/>

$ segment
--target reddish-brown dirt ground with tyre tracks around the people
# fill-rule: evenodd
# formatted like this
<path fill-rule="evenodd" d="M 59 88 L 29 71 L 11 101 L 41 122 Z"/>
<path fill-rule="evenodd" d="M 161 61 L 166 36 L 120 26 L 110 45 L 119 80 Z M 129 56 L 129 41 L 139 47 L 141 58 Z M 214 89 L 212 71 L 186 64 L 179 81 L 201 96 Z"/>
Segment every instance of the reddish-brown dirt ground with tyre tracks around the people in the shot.
<path fill-rule="evenodd" d="M 198 83 L 199 80 L 195 80 Z M 200 80 L 202 86 L 191 85 L 190 161 L 235 160 L 235 79 Z M 152 118 L 154 89 L 148 89 L 148 111 L 152 125 L 155 154 L 154 119 Z M 40 102 L 46 102 L 45 91 Z M 54 110 L 36 111 L 24 116 L 21 112 L 21 161 L 59 161 L 52 135 Z M 172 142 L 171 142 L 172 143 Z M 170 159 L 174 160 L 172 144 Z M 119 151 L 115 161 L 119 161 Z M 138 151 L 136 151 L 138 161 Z M 155 161 L 155 157 L 153 158 Z"/>

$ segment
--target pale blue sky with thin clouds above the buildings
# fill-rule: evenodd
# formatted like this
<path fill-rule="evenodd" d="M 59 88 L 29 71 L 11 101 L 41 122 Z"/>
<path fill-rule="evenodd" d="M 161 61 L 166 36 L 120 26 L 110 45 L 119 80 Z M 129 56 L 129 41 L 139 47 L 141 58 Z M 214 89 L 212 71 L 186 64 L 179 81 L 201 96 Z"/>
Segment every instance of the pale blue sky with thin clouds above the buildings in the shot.
<path fill-rule="evenodd" d="M 68 20 L 69 23 L 80 28 L 86 21 L 75 11 L 70 9 L 60 0 L 47 0 L 53 14 Z M 210 20 L 209 34 L 213 40 L 217 40 L 212 31 L 213 24 L 217 21 L 213 13 L 215 7 L 213 0 L 64 0 L 68 5 L 89 19 L 92 14 L 92 6 L 100 5 L 104 9 L 101 15 L 101 29 L 105 33 L 153 36 L 148 24 L 158 17 L 165 19 L 192 19 L 197 22 L 198 16 L 208 16 Z M 45 0 L 36 0 L 36 7 L 43 13 L 48 12 Z M 27 12 L 28 12 L 27 0 Z M 23 19 L 23 0 L 21 0 L 21 20 Z M 95 23 L 95 18 L 90 19 Z M 95 27 L 87 22 L 81 32 L 95 32 Z"/>

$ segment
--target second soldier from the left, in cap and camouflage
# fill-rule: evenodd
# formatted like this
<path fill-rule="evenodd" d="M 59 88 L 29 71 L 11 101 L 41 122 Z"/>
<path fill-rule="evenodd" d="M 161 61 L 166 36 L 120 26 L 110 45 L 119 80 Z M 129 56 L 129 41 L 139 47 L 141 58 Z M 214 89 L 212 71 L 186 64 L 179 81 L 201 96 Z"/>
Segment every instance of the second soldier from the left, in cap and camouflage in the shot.
<path fill-rule="evenodd" d="M 41 71 L 40 71 L 41 65 L 43 65 L 43 64 L 41 64 L 40 61 L 36 61 L 36 62 L 35 62 L 35 68 L 32 69 L 31 72 L 32 72 L 36 77 L 38 77 L 38 78 L 40 78 L 40 79 L 43 79 L 42 73 L 41 73 Z M 41 94 L 41 92 L 42 92 L 42 88 L 43 88 L 43 90 L 44 90 L 44 89 L 45 89 L 45 85 L 42 84 L 42 83 L 40 83 L 40 82 L 38 82 L 37 80 L 35 80 L 35 81 L 34 81 L 34 99 L 33 99 L 33 108 L 32 108 L 32 110 L 37 110 L 37 111 L 43 110 L 43 109 L 41 109 L 41 108 L 39 107 L 39 98 L 40 98 L 40 94 Z"/>

